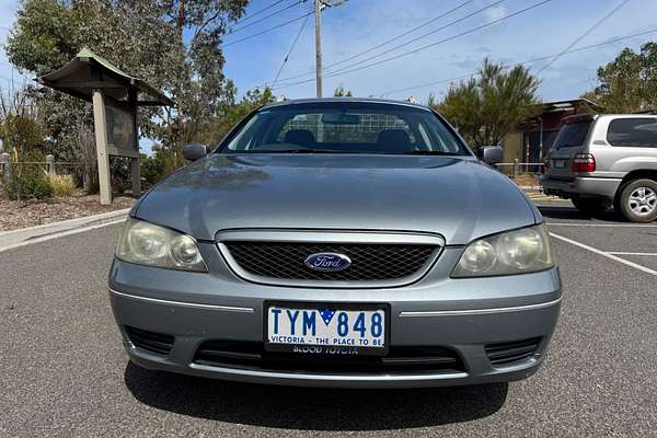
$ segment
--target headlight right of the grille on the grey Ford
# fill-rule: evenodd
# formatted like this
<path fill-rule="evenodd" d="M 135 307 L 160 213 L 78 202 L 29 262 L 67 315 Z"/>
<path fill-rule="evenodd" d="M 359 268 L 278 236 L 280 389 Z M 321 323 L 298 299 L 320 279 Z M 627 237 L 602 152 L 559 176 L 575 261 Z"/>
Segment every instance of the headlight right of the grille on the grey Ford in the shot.
<path fill-rule="evenodd" d="M 522 228 L 472 242 L 452 273 L 454 278 L 534 273 L 554 266 L 544 226 Z"/>

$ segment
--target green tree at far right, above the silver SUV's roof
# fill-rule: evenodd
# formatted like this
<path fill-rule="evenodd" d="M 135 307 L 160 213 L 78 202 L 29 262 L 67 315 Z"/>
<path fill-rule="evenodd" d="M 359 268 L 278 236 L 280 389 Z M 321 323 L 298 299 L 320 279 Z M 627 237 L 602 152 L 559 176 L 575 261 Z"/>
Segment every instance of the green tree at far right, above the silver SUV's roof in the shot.
<path fill-rule="evenodd" d="M 644 44 L 639 53 L 625 48 L 598 68 L 598 87 L 584 97 L 608 113 L 657 108 L 657 43 Z"/>

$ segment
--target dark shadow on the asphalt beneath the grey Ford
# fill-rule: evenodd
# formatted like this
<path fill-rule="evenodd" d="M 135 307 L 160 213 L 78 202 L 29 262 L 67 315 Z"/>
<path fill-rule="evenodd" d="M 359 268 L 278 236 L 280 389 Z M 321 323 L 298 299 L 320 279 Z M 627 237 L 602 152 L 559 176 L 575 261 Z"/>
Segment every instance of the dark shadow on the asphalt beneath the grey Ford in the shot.
<path fill-rule="evenodd" d="M 496 413 L 508 383 L 420 390 L 341 390 L 234 383 L 147 370 L 125 383 L 149 406 L 194 417 L 309 430 L 387 430 L 468 422 Z"/>

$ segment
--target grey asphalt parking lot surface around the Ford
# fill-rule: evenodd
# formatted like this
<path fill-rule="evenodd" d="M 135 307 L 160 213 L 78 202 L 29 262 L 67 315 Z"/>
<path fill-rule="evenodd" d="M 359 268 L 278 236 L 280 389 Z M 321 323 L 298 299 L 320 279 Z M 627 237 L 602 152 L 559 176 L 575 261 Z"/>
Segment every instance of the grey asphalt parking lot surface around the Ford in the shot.
<path fill-rule="evenodd" d="M 657 222 L 541 207 L 564 281 L 529 380 L 430 390 L 247 385 L 128 362 L 105 289 L 119 226 L 0 252 L 0 437 L 657 436 Z"/>

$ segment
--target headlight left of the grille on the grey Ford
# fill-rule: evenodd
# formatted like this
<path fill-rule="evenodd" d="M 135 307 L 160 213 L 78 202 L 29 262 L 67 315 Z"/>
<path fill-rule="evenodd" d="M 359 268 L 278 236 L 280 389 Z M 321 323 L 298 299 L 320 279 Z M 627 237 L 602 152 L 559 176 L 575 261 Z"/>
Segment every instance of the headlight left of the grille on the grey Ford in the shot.
<path fill-rule="evenodd" d="M 196 241 L 187 234 L 137 219 L 128 219 L 116 256 L 124 262 L 207 273 Z"/>

